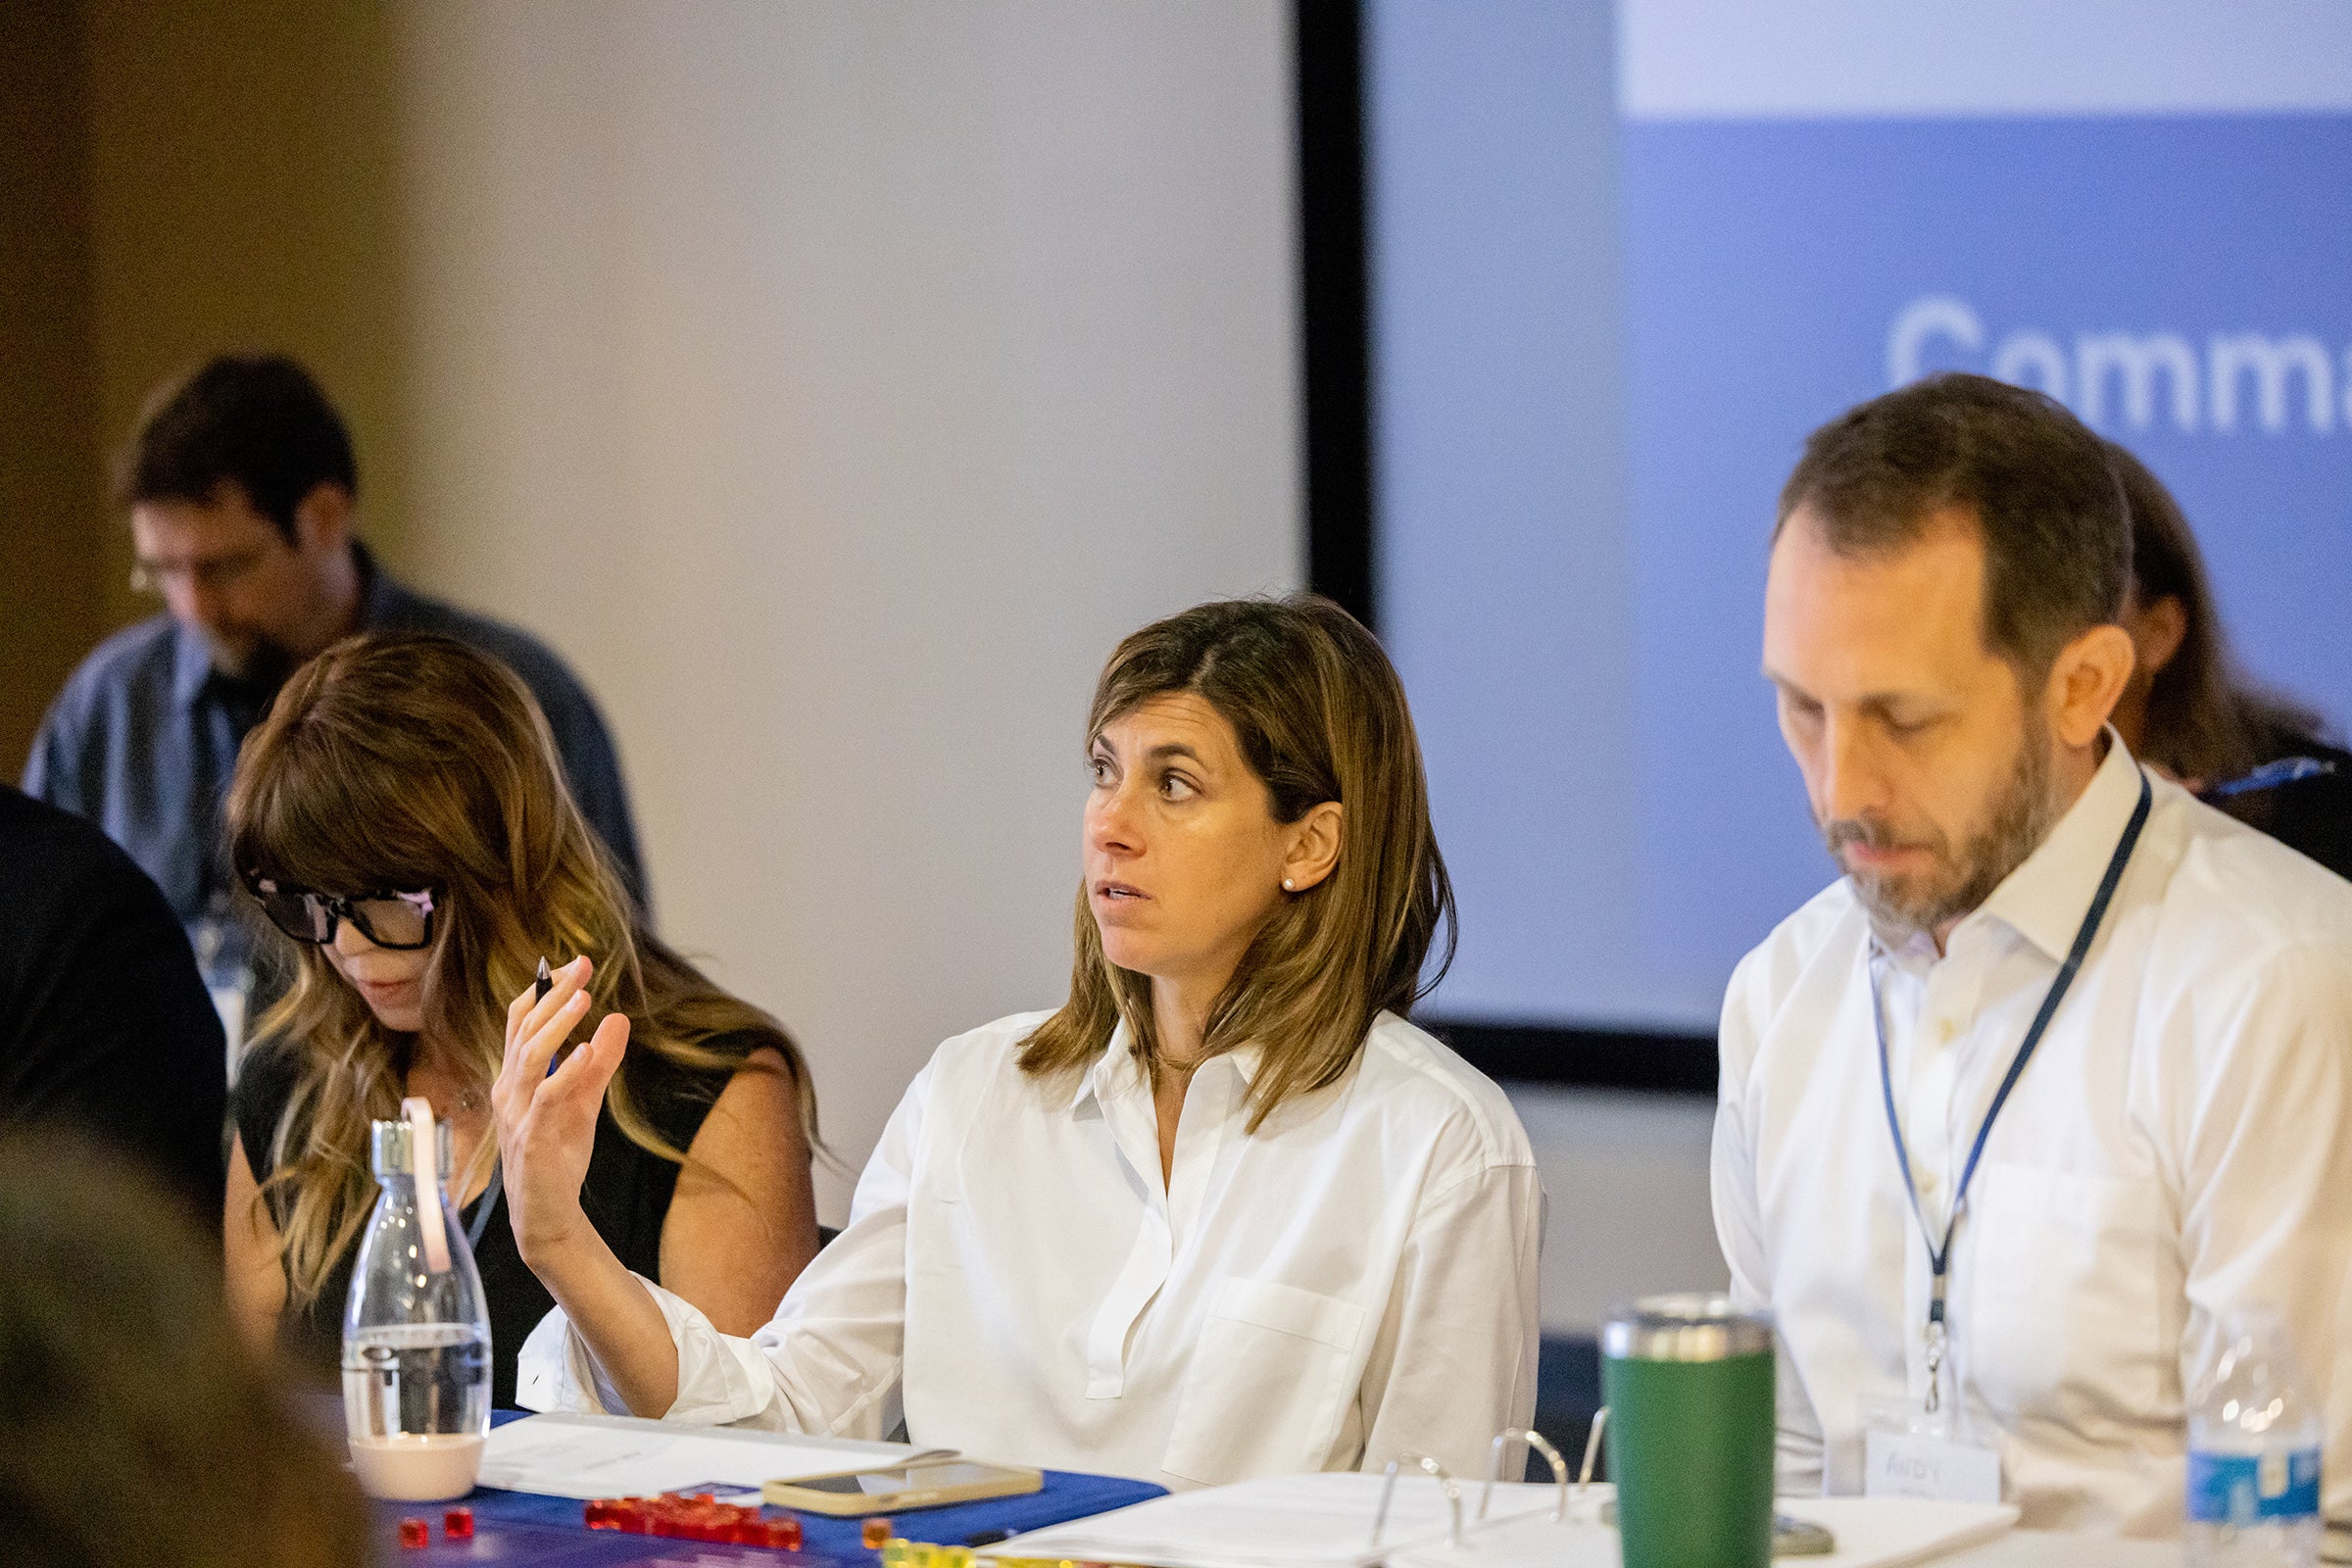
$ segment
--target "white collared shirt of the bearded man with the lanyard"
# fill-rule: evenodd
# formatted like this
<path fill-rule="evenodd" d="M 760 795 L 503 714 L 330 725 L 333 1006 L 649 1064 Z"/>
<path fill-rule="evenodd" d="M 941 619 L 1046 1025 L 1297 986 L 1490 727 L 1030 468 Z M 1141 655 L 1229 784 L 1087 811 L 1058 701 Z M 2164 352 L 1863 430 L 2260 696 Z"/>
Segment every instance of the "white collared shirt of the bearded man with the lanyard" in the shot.
<path fill-rule="evenodd" d="M 1837 882 L 1724 997 L 1715 1227 L 1780 1328 L 1783 1490 L 1863 1490 L 1865 1396 L 1924 1401 L 1929 1262 L 1969 1145 L 2138 804 L 2110 731 L 2049 839 L 1933 945 L 1882 952 Z M 2352 884 L 2157 778 L 2089 961 L 1985 1145 L 1950 1371 L 2039 1528 L 2171 1535 L 2185 1401 L 2232 1307 L 2277 1307 L 2352 1514 Z"/>

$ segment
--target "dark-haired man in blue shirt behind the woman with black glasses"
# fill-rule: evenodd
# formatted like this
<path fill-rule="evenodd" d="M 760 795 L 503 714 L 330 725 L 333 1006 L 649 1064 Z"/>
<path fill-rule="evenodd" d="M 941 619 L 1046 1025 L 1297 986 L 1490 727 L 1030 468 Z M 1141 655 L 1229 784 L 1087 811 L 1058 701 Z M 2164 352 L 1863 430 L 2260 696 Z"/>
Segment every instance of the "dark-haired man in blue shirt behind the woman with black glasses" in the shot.
<path fill-rule="evenodd" d="M 153 616 L 103 642 L 42 719 L 24 788 L 92 820 L 188 929 L 230 1030 L 242 940 L 228 914 L 221 792 L 245 733 L 296 665 L 360 630 L 445 632 L 501 658 L 539 698 L 581 813 L 644 903 L 612 736 L 546 644 L 402 588 L 353 536 L 350 433 L 282 355 L 221 355 L 160 388 L 115 468 L 134 585 Z"/>

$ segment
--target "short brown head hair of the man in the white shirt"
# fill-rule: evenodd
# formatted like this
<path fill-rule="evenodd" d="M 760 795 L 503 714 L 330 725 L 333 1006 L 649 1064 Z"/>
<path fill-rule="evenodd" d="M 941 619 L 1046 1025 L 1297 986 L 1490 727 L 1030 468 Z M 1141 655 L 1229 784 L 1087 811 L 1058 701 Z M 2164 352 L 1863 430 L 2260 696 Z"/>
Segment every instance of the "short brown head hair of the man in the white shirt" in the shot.
<path fill-rule="evenodd" d="M 1985 646 L 2039 682 L 2067 642 L 2124 611 L 2131 522 L 2100 440 L 2056 400 L 1931 376 L 1813 430 L 1780 489 L 1837 555 L 1905 550 L 1962 508 L 1985 543 Z"/>

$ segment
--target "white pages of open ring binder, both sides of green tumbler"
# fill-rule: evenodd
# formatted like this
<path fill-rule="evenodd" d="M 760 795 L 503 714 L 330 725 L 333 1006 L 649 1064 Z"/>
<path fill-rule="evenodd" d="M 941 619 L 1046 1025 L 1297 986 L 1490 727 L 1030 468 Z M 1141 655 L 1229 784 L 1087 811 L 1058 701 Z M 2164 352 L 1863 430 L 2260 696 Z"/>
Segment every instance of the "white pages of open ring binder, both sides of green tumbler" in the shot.
<path fill-rule="evenodd" d="M 1322 1474 L 1244 1481 L 1155 1497 L 1115 1514 L 1033 1530 L 1011 1556 L 1061 1556 L 1138 1568 L 1618 1568 L 1618 1535 L 1599 1521 L 1611 1488 L 1592 1486 L 1552 1519 L 1557 1486 L 1496 1486 L 1486 1519 L 1482 1488 L 1463 1486 L 1463 1544 L 1437 1481 L 1397 1476 L 1381 1544 L 1371 1519 L 1381 1476 Z M 1910 1497 L 1783 1497 L 1783 1514 L 1828 1526 L 1832 1556 L 1783 1559 L 1788 1568 L 1905 1568 L 2006 1533 L 2018 1512 L 1985 1502 Z"/>

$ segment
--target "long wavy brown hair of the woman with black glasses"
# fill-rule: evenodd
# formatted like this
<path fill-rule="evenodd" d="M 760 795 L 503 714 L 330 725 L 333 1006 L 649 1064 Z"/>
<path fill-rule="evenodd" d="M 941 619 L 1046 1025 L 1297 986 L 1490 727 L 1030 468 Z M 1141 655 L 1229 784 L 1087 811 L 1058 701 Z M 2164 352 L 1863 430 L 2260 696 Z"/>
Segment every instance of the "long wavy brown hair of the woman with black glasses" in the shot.
<path fill-rule="evenodd" d="M 595 1011 L 626 1013 L 607 1093 L 630 1143 L 684 1161 L 654 1110 L 706 1103 L 769 1046 L 793 1070 L 816 1143 L 816 1091 L 783 1027 L 656 940 L 555 762 L 548 722 L 501 663 L 449 637 L 372 632 L 303 665 L 245 741 L 228 790 L 240 875 L 327 893 L 435 893 L 423 1030 L 480 1084 L 499 1070 L 506 1004 L 541 954 L 595 959 Z M 261 1197 L 280 1215 L 292 1300 L 308 1305 L 365 1222 L 367 1124 L 400 1114 L 412 1041 L 386 1030 L 322 947 L 261 924 L 292 987 L 256 1039 L 296 1053 Z M 485 1140 L 459 1190 L 496 1154 Z"/>

